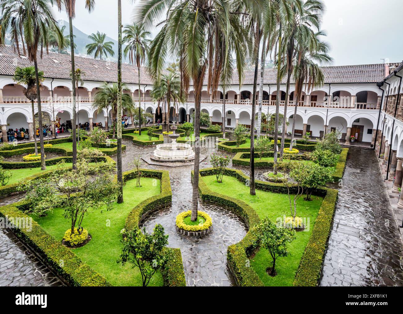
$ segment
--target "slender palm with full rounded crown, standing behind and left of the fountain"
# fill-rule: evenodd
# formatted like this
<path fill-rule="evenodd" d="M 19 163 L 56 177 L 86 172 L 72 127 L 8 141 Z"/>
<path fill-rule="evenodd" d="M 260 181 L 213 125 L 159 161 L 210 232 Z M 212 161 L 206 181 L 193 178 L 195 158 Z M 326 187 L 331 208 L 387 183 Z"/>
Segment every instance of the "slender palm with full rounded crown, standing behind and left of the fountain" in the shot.
<path fill-rule="evenodd" d="M 123 42 L 127 44 L 125 47 L 125 57 L 129 56 L 129 61 L 131 64 L 137 66 L 138 79 L 139 79 L 139 116 L 141 108 L 141 88 L 140 88 L 140 67 L 143 64 L 146 56 L 148 46 L 150 45 L 150 40 L 147 39 L 150 36 L 149 31 L 145 31 L 142 27 L 133 24 L 127 25 L 123 31 L 125 37 L 123 37 Z M 141 125 L 139 126 L 139 135 L 141 135 Z"/>

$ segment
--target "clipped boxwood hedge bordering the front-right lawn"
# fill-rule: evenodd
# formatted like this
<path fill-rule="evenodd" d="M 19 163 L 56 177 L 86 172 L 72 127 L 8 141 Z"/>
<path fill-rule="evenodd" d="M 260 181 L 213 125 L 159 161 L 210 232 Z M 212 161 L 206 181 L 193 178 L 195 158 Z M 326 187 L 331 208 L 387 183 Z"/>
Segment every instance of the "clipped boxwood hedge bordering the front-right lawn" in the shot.
<path fill-rule="evenodd" d="M 259 243 L 251 234 L 251 227 L 260 223 L 258 214 L 242 200 L 231 198 L 211 191 L 202 176 L 214 175 L 213 168 L 206 168 L 200 171 L 199 194 L 204 202 L 212 202 L 220 206 L 229 208 L 245 220 L 249 226 L 249 231 L 238 243 L 230 245 L 227 250 L 227 260 L 237 284 L 240 286 L 263 286 L 262 281 L 252 267 L 246 267 L 245 261 L 259 248 Z M 232 176 L 241 183 L 249 180 L 240 170 L 226 169 L 224 175 Z M 256 181 L 256 189 L 270 191 L 273 193 L 288 193 L 287 186 L 282 183 L 270 183 Z M 296 186 L 291 187 L 291 193 L 296 193 Z M 324 198 L 320 207 L 316 223 L 312 231 L 310 240 L 305 248 L 301 262 L 299 264 L 293 285 L 295 286 L 316 286 L 320 279 L 326 247 L 332 230 L 334 210 L 336 208 L 338 191 L 335 189 L 320 188 L 312 192 L 313 195 Z"/>

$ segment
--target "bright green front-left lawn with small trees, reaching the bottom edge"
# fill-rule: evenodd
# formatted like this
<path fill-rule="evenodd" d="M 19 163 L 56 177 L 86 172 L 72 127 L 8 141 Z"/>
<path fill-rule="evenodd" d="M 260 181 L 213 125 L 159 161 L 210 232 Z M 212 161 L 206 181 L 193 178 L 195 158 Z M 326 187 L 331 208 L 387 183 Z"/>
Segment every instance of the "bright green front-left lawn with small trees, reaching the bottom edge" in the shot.
<path fill-rule="evenodd" d="M 122 250 L 120 230 L 125 227 L 129 212 L 141 201 L 160 193 L 160 184 L 153 185 L 151 178 L 141 178 L 141 187 L 136 187 L 136 180 L 126 181 L 123 187 L 124 202 L 115 204 L 113 210 L 102 213 L 89 212 L 84 217 L 83 227 L 92 239 L 83 247 L 73 249 L 74 253 L 91 268 L 102 274 L 106 280 L 116 286 L 141 286 L 141 274 L 131 264 L 122 266 L 116 263 Z M 70 222 L 64 218 L 63 210 L 56 208 L 46 217 L 33 217 L 48 233 L 62 241 L 64 232 L 70 228 Z M 150 286 L 162 286 L 160 272 L 150 281 Z"/>

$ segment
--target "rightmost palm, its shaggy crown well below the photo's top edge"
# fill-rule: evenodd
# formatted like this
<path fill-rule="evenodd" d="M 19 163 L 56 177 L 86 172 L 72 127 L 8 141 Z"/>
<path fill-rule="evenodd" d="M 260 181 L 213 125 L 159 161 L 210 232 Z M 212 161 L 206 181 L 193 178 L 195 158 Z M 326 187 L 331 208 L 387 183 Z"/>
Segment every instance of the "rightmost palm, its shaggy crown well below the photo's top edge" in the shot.
<path fill-rule="evenodd" d="M 309 93 L 314 87 L 322 86 L 324 83 L 324 75 L 322 69 L 316 62 L 320 64 L 332 62 L 332 58 L 328 55 L 329 46 L 326 42 L 320 41 L 319 36 L 325 36 L 322 31 L 314 33 L 310 30 L 309 36 L 301 36 L 297 42 L 297 61 L 294 67 L 295 78 L 295 96 L 296 100 L 301 98 L 303 85 L 305 91 Z M 297 114 L 297 102 L 295 103 L 294 116 Z M 295 131 L 295 120 L 293 119 L 293 129 L 291 132 L 290 149 L 293 148 L 293 139 Z"/>

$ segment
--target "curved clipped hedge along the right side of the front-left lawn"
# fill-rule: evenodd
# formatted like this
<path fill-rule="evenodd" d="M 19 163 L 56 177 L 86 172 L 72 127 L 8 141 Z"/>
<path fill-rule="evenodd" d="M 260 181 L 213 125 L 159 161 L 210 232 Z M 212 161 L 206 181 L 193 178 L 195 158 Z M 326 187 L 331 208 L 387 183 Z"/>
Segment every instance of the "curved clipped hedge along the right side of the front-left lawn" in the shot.
<path fill-rule="evenodd" d="M 123 179 L 129 180 L 136 177 L 137 171 L 127 171 L 123 173 Z M 139 223 L 150 212 L 156 210 L 160 206 L 165 206 L 172 202 L 172 190 L 169 179 L 168 171 L 156 171 L 149 169 L 141 169 L 142 177 L 150 177 L 161 180 L 161 193 L 154 195 L 147 200 L 138 204 L 130 212 L 126 218 L 125 229 L 127 231 L 139 229 Z M 181 250 L 178 248 L 172 249 L 170 247 L 164 248 L 164 254 L 168 256 L 168 260 L 162 269 L 162 276 L 164 278 L 165 286 L 186 286 L 185 272 L 183 271 L 183 261 Z"/>

